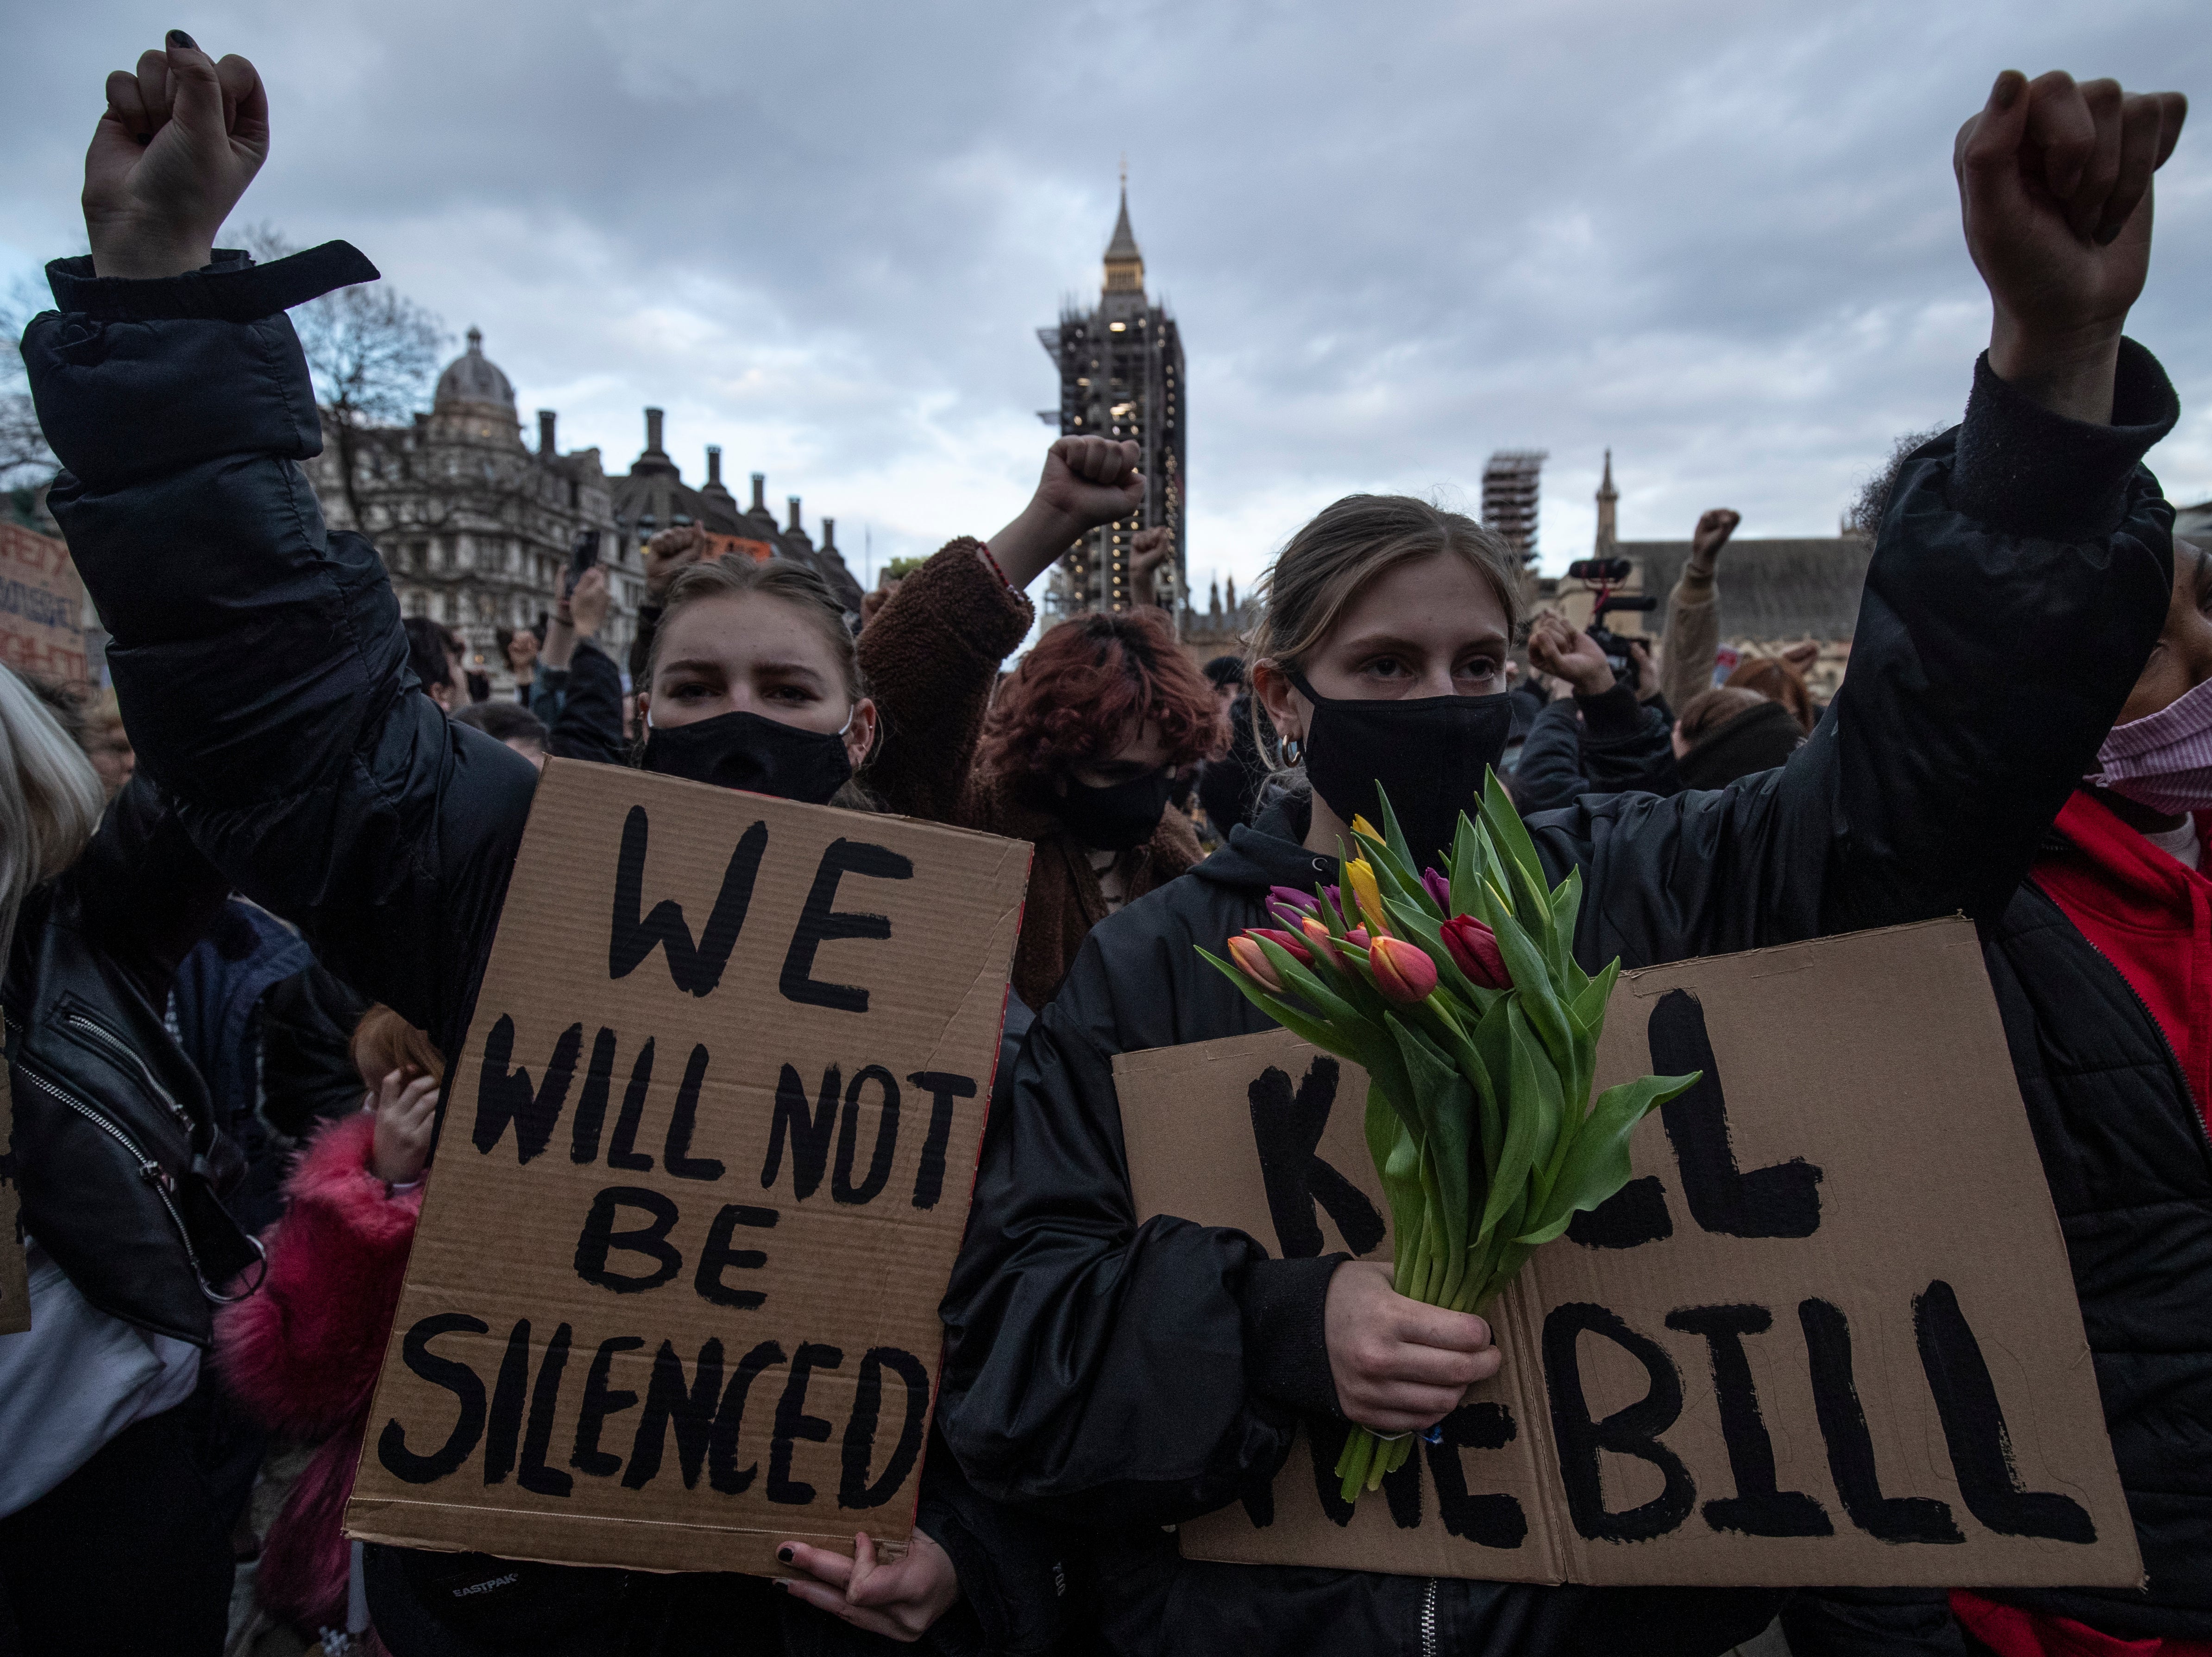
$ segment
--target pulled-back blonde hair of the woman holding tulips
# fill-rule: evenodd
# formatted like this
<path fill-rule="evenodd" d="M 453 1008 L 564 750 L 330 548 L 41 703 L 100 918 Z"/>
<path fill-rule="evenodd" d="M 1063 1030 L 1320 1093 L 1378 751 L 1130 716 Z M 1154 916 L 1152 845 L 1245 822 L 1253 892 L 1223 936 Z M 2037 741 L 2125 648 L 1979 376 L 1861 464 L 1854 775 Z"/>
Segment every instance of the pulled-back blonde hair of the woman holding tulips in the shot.
<path fill-rule="evenodd" d="M 1467 513 L 1413 496 L 1345 496 L 1292 535 L 1261 577 L 1248 670 L 1259 664 L 1303 668 L 1345 606 L 1376 577 L 1438 553 L 1451 553 L 1489 582 L 1506 613 L 1506 633 L 1517 635 L 1526 611 L 1522 569 L 1498 535 Z M 1252 732 L 1265 754 L 1272 730 L 1261 721 L 1259 697 L 1252 697 Z"/>

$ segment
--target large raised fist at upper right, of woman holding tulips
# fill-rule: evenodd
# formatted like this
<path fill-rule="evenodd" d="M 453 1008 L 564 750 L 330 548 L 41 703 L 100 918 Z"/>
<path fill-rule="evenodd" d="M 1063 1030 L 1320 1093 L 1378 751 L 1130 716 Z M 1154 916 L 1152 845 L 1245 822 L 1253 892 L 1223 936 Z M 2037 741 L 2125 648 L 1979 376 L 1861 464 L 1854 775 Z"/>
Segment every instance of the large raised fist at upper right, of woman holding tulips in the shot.
<path fill-rule="evenodd" d="M 1995 305 L 1989 361 L 2002 378 L 2033 383 L 2055 363 L 2117 350 L 2150 268 L 2150 175 L 2185 115 L 2181 93 L 2006 69 L 1958 128 L 1966 250 Z M 2110 398 L 2104 414 L 2064 411 L 2110 418 Z"/>

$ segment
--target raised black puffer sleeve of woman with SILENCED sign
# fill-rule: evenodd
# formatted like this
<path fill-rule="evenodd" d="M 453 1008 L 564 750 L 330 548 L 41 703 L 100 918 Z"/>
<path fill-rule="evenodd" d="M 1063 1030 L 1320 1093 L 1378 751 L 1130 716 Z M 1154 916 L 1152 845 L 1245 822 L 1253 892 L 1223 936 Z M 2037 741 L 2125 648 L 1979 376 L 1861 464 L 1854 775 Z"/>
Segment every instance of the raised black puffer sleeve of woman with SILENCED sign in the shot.
<path fill-rule="evenodd" d="M 312 296 L 305 277 L 374 270 L 299 254 L 305 274 L 279 261 L 217 303 L 210 285 L 254 274 L 223 259 L 168 281 L 53 270 L 80 308 L 24 334 L 66 467 L 49 504 L 113 635 L 139 765 L 190 836 L 451 1053 L 538 772 L 418 690 L 383 560 L 325 531 L 299 467 L 321 423 L 281 305 Z"/>

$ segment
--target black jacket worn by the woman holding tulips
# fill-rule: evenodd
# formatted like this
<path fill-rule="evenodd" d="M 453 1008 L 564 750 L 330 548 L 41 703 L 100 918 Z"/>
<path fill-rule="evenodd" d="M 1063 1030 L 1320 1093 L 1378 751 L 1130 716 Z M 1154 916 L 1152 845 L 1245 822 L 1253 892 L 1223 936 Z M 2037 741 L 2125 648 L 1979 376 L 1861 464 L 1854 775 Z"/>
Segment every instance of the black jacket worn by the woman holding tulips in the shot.
<path fill-rule="evenodd" d="M 1997 918 L 2166 617 L 2172 513 L 2137 460 L 2174 420 L 2124 350 L 2084 427 L 1986 365 L 1964 425 L 1907 465 L 1867 575 L 1851 677 L 1774 772 L 1710 794 L 1588 796 L 1531 823 L 1582 869 L 1575 953 L 1628 967 L 1958 909 Z M 1194 953 L 1329 865 L 1290 812 L 1091 934 L 993 1113 L 947 1294 L 940 1420 L 978 1489 L 1104 1529 L 1113 1650 L 1714 1653 L 1772 1595 L 1652 1595 L 1181 1564 L 1159 1533 L 1283 1462 L 1334 1409 L 1329 1261 L 1243 1232 L 1137 1223 L 1113 1055 L 1265 1026 Z M 2199 1564 L 2199 1571 L 2208 1569 Z M 1433 1617 L 1440 1639 L 1425 1646 Z"/>

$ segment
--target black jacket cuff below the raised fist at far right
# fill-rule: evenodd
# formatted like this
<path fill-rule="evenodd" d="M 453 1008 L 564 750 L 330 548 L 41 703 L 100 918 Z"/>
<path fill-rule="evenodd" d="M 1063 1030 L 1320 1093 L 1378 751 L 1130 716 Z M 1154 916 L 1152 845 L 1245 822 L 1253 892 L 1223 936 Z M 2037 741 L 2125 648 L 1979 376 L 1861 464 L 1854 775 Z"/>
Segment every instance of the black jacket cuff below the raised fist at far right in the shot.
<path fill-rule="evenodd" d="M 2179 418 L 2166 369 L 2132 338 L 2119 343 L 2112 425 L 2053 414 L 1997 378 L 1982 352 L 1958 429 L 1951 507 L 2037 540 L 2101 540 L 2119 529 L 2128 480 L 2143 454 Z"/>

